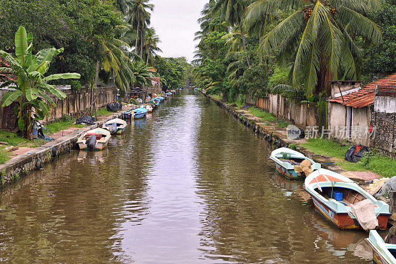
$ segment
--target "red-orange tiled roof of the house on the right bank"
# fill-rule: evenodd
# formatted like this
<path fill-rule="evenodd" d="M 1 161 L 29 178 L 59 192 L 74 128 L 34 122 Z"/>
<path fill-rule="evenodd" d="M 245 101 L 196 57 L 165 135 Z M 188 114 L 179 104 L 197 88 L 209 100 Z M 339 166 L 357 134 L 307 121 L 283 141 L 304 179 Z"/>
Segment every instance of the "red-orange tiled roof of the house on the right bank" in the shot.
<path fill-rule="evenodd" d="M 381 78 L 375 82 L 363 86 L 360 90 L 328 100 L 329 102 L 341 103 L 345 106 L 362 108 L 374 103 L 375 87 L 377 85 L 394 86 L 396 85 L 396 73 Z M 344 101 L 343 101 L 344 99 Z"/>

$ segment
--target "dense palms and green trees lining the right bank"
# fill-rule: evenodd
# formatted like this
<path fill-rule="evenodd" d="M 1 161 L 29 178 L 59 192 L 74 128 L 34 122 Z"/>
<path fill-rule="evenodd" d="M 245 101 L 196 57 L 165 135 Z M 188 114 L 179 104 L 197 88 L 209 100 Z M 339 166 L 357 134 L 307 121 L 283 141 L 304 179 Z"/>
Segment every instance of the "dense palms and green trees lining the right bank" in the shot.
<path fill-rule="evenodd" d="M 230 103 L 269 93 L 316 102 L 330 80 L 396 72 L 395 0 L 209 0 L 201 13 L 194 80 Z"/>

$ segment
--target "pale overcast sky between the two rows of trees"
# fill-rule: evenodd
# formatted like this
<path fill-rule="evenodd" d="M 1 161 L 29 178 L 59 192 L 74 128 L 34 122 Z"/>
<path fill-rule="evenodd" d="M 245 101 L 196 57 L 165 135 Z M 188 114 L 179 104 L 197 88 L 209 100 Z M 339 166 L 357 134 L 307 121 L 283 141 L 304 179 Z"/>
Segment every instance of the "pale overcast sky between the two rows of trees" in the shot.
<path fill-rule="evenodd" d="M 163 57 L 182 57 L 193 60 L 194 33 L 199 30 L 197 19 L 207 0 L 151 0 L 155 4 L 151 27 L 159 35 L 158 46 Z"/>

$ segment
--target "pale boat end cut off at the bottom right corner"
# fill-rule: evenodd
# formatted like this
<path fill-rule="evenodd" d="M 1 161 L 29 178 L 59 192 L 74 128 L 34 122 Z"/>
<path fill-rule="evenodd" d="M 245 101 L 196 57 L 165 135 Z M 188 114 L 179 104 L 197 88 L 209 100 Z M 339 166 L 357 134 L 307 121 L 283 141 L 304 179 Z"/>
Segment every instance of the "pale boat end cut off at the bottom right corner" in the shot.
<path fill-rule="evenodd" d="M 376 230 L 370 230 L 365 238 L 373 248 L 373 261 L 378 264 L 396 264 L 396 245 L 385 243 Z"/>

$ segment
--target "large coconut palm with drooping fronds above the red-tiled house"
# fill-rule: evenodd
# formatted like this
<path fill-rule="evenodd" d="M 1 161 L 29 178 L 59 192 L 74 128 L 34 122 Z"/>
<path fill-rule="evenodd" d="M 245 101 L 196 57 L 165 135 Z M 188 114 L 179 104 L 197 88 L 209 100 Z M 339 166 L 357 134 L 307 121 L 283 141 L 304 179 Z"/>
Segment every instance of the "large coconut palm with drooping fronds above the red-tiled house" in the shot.
<path fill-rule="evenodd" d="M 291 14 L 269 31 L 260 48 L 269 54 L 279 50 L 279 58 L 291 62 L 290 79 L 305 95 L 328 89 L 328 81 L 358 79 L 361 50 L 356 36 L 368 44 L 382 41 L 381 30 L 365 17 L 381 0 L 258 0 L 247 9 L 247 23 L 264 14 L 285 10 Z"/>

